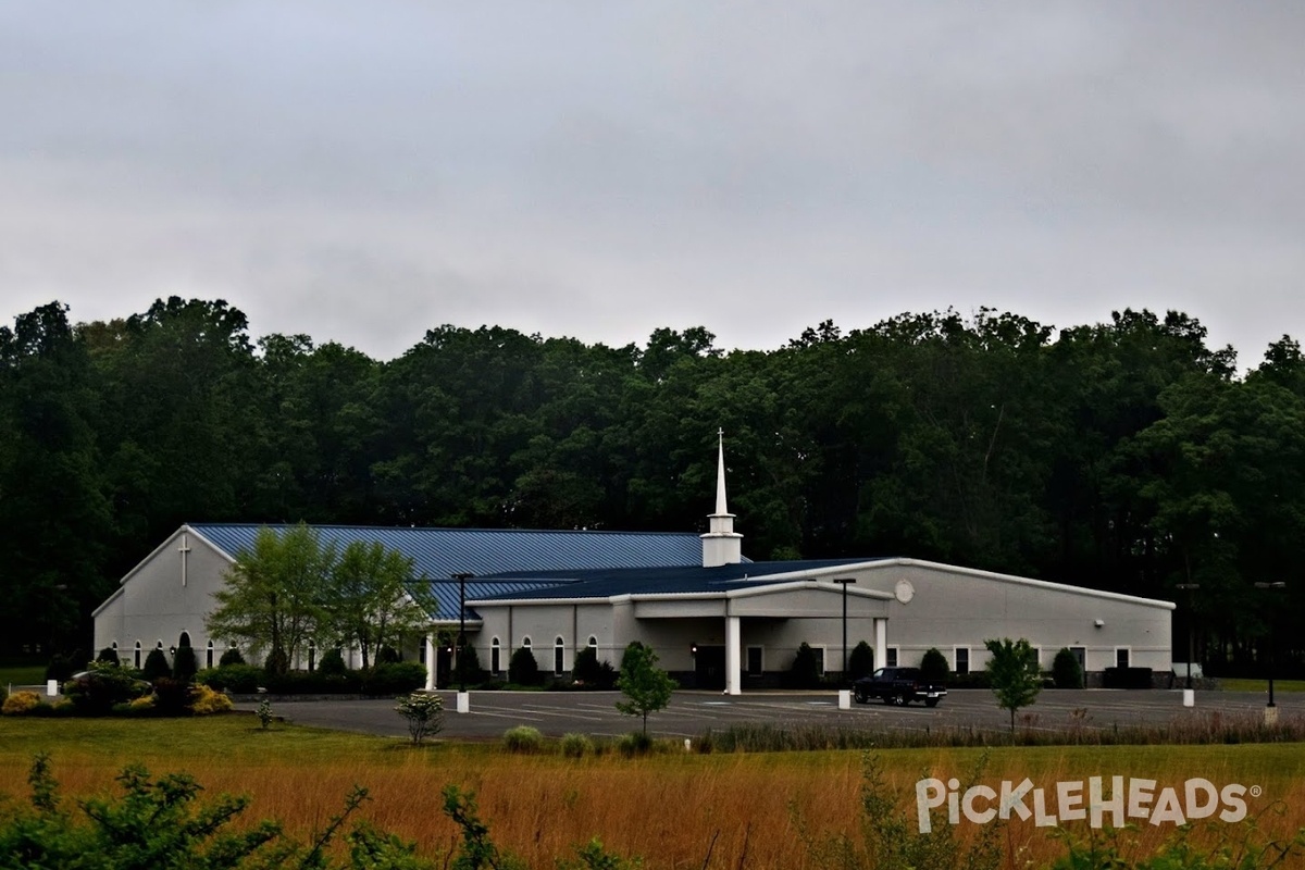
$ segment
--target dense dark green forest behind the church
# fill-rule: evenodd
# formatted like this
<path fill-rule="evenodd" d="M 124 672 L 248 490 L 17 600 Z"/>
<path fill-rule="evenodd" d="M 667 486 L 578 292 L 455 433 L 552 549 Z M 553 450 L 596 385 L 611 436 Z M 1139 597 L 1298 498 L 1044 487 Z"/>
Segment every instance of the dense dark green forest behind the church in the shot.
<path fill-rule="evenodd" d="M 912 556 L 1180 603 L 1208 667 L 1305 623 L 1305 357 L 1195 320 L 983 310 L 607 347 L 441 326 L 392 361 L 224 301 L 0 327 L 0 643 L 85 648 L 183 522 L 705 531 L 716 430 L 752 558 Z M 1257 583 L 1284 582 L 1265 590 Z M 1191 592 L 1178 583 L 1195 583 Z M 1276 638 L 1276 640 L 1274 640 Z"/>

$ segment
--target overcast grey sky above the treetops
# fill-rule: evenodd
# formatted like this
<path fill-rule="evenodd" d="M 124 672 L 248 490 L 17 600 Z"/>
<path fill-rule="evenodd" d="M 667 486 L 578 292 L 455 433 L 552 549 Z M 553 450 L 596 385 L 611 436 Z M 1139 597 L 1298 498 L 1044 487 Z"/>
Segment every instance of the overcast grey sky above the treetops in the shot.
<path fill-rule="evenodd" d="M 1305 337 L 1300 3 L 0 4 L 0 322 Z"/>

